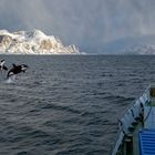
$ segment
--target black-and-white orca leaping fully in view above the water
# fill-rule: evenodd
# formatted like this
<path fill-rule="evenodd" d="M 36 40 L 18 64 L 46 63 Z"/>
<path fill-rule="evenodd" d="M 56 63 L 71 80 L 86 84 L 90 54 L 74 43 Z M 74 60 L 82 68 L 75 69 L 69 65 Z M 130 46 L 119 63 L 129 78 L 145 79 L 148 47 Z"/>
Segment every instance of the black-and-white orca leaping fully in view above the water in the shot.
<path fill-rule="evenodd" d="M 12 65 L 13 68 L 8 72 L 7 79 L 9 79 L 12 75 L 19 74 L 21 72 L 24 73 L 29 68 L 27 64 L 20 64 L 20 65 L 12 64 Z"/>

